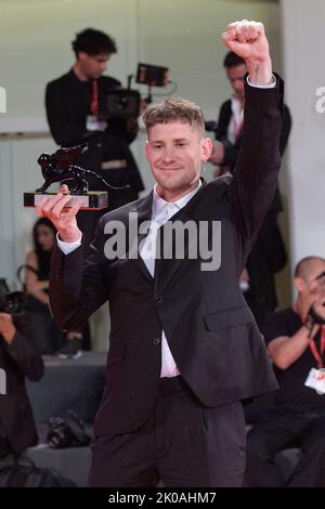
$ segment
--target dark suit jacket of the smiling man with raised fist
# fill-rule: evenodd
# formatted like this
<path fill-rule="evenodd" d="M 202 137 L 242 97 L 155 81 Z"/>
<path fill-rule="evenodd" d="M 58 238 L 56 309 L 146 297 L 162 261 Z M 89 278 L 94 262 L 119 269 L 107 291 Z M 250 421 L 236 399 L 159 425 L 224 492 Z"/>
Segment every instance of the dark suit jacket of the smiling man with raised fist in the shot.
<path fill-rule="evenodd" d="M 221 221 L 219 270 L 202 271 L 199 259 L 165 259 L 156 261 L 152 278 L 141 258 L 105 258 L 105 225 L 118 220 L 127 227 L 131 211 L 140 223 L 151 219 L 152 194 L 101 219 L 83 267 L 82 247 L 66 257 L 54 250 L 50 299 L 62 327 L 109 302 L 107 382 L 96 434 L 130 432 L 148 417 L 159 387 L 162 329 L 180 373 L 204 405 L 276 388 L 238 278 L 276 186 L 282 89 L 281 81 L 274 90 L 247 89 L 238 171 L 204 184 L 171 219 Z"/>

